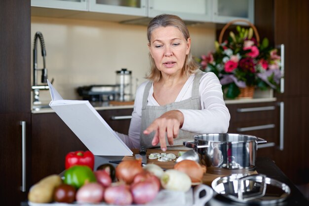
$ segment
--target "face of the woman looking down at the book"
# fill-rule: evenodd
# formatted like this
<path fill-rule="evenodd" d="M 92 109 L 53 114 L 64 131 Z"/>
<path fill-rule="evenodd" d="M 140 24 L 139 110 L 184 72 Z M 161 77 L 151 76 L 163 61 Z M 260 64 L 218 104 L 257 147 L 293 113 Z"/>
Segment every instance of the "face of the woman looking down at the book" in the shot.
<path fill-rule="evenodd" d="M 180 30 L 173 26 L 154 29 L 148 44 L 157 69 L 162 74 L 180 74 L 190 52 L 191 39 L 185 39 Z"/>

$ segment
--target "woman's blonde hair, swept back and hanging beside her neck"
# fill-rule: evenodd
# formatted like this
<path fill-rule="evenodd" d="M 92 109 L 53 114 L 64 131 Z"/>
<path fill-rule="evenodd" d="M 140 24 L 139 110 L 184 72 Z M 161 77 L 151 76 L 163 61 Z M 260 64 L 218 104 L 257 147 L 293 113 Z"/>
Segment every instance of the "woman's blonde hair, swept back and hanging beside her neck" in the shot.
<path fill-rule="evenodd" d="M 186 40 L 188 40 L 188 38 L 190 37 L 188 28 L 186 27 L 185 22 L 180 17 L 176 15 L 171 15 L 171 14 L 161 14 L 161 15 L 154 17 L 148 25 L 147 37 L 148 37 L 149 43 L 151 40 L 151 35 L 156 28 L 167 27 L 167 26 L 173 26 L 173 27 L 178 28 L 180 32 L 184 35 Z M 156 68 L 154 64 L 154 59 L 150 53 L 149 53 L 149 58 L 151 62 L 151 69 L 150 69 L 150 74 L 146 78 L 154 82 L 159 81 L 162 74 Z M 189 54 L 186 56 L 182 72 L 183 74 L 190 76 L 197 69 L 198 69 L 198 65 L 193 60 L 191 51 L 189 51 Z"/>

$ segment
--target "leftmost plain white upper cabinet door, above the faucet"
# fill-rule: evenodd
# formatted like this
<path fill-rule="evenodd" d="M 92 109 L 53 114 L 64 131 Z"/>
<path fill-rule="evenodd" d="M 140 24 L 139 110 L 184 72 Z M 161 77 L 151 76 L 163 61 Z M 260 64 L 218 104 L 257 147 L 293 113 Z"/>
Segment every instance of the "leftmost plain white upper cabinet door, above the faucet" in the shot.
<path fill-rule="evenodd" d="M 87 11 L 87 0 L 31 0 L 31 6 Z"/>

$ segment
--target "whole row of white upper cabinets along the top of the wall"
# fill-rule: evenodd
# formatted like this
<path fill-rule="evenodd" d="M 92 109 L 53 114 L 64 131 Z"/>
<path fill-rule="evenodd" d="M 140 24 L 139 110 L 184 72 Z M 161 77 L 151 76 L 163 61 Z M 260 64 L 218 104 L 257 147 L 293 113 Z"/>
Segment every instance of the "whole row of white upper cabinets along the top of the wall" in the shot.
<path fill-rule="evenodd" d="M 31 6 L 32 15 L 64 18 L 123 21 L 168 13 L 192 22 L 245 19 L 254 23 L 254 0 L 31 0 Z"/>

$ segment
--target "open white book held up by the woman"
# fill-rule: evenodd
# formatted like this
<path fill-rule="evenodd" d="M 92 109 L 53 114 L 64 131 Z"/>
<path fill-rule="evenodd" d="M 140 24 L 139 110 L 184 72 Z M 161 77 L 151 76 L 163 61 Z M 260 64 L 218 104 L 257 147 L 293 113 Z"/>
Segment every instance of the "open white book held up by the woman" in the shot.
<path fill-rule="evenodd" d="M 49 106 L 94 155 L 132 156 L 133 152 L 89 101 L 64 100 L 48 80 L 47 83 L 51 95 Z"/>

